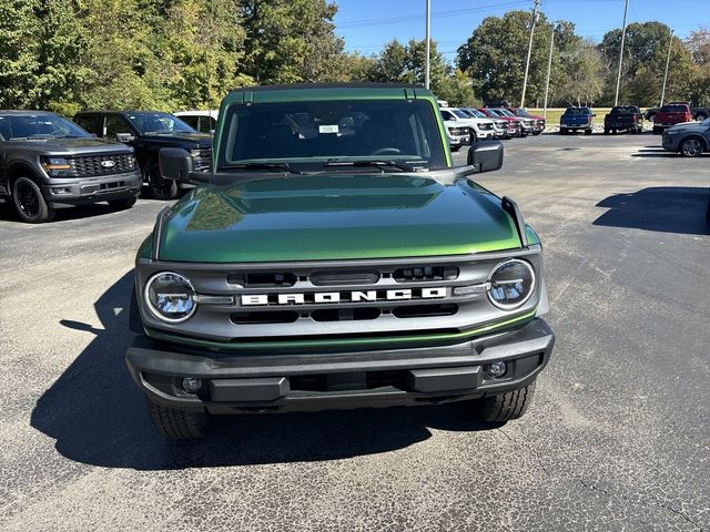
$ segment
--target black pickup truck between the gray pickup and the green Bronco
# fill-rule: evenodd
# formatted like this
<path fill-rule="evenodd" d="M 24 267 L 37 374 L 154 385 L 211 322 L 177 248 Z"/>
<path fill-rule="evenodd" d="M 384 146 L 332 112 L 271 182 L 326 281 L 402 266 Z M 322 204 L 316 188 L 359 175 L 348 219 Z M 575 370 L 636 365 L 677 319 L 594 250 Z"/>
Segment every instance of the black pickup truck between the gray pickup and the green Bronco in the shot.
<path fill-rule="evenodd" d="M 135 149 L 135 156 L 155 200 L 173 200 L 179 185 L 163 180 L 158 166 L 158 152 L 180 147 L 192 155 L 197 172 L 209 172 L 212 164 L 212 136 L 199 133 L 178 116 L 159 111 L 85 111 L 74 121 L 95 135 L 123 142 Z M 185 185 L 181 185 L 185 186 Z"/>

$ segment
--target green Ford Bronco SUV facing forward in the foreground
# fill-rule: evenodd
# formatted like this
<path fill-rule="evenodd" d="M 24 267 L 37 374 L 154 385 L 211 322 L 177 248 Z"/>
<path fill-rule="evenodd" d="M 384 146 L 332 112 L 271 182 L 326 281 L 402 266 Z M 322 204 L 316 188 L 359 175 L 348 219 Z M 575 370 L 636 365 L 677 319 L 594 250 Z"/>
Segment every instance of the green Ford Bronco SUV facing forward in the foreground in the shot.
<path fill-rule="evenodd" d="M 517 205 L 454 167 L 417 85 L 240 89 L 213 171 L 163 149 L 197 186 L 158 216 L 135 262 L 130 372 L 158 429 L 213 415 L 469 401 L 520 417 L 555 336 L 542 248 Z"/>

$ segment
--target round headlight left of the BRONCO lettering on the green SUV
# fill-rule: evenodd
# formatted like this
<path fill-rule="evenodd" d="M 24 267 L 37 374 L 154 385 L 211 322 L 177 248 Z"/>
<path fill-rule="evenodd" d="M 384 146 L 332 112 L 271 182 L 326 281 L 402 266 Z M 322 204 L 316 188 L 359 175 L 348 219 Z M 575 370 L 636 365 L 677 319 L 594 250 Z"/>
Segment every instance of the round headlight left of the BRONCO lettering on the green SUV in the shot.
<path fill-rule="evenodd" d="M 197 308 L 192 283 L 173 272 L 161 272 L 148 279 L 144 296 L 153 316 L 169 324 L 184 321 Z"/>

